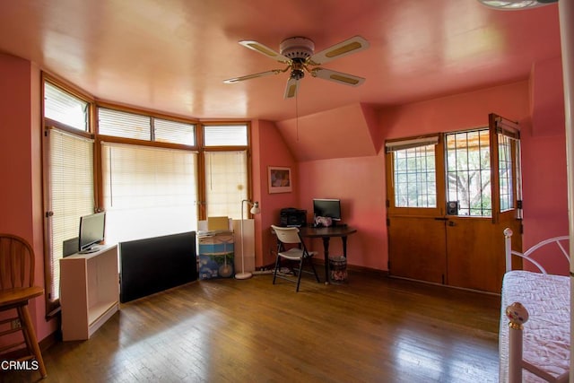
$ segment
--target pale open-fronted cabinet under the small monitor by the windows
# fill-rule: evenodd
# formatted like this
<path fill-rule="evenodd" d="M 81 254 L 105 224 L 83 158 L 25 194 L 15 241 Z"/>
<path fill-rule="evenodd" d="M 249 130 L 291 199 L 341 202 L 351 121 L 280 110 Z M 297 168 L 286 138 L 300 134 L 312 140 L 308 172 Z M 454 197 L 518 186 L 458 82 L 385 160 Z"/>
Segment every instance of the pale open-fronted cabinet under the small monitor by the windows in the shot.
<path fill-rule="evenodd" d="M 89 339 L 119 309 L 117 245 L 60 260 L 65 341 Z"/>

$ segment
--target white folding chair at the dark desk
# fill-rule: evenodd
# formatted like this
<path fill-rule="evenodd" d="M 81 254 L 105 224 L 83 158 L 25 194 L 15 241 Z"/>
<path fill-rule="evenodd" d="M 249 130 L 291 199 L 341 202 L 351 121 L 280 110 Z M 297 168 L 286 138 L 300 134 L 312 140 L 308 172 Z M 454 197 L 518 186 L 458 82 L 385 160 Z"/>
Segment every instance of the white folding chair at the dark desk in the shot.
<path fill-rule="evenodd" d="M 274 226 L 274 225 L 271 225 L 271 227 L 275 231 L 275 234 L 277 235 L 277 239 L 278 239 L 277 257 L 275 259 L 275 270 L 273 273 L 273 284 L 275 284 L 276 278 L 279 277 L 279 278 L 282 278 L 284 280 L 297 283 L 297 288 L 295 289 L 295 292 L 299 292 L 299 285 L 301 283 L 301 274 L 303 274 L 303 273 L 314 274 L 315 279 L 317 279 L 317 283 L 318 283 L 319 277 L 317 275 L 317 271 L 315 270 L 315 265 L 313 265 L 313 262 L 311 260 L 311 257 L 313 257 L 316 254 L 316 252 L 315 251 L 311 251 L 311 252 L 307 251 L 307 248 L 305 247 L 305 243 L 303 242 L 303 240 L 300 237 L 299 229 L 297 229 L 297 228 L 283 228 L 283 227 Z M 297 244 L 298 247 L 296 247 L 296 248 L 291 247 L 288 250 L 285 250 L 284 245 L 295 245 L 295 244 Z M 299 267 L 293 269 L 293 271 L 296 272 L 297 280 L 289 278 L 285 275 L 277 274 L 277 272 L 281 268 L 281 259 L 282 258 L 288 259 L 290 261 L 298 261 L 299 262 Z M 313 270 L 313 272 L 303 270 L 303 262 L 307 262 L 311 266 L 311 269 Z"/>

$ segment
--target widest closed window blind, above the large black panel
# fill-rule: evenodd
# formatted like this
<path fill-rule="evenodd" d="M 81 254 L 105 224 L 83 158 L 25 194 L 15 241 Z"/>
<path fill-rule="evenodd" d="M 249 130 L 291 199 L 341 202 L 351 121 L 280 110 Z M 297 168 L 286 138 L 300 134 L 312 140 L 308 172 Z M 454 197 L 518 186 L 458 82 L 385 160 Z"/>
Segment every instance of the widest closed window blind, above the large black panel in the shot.
<path fill-rule="evenodd" d="M 195 231 L 196 152 L 102 144 L 106 241 Z"/>

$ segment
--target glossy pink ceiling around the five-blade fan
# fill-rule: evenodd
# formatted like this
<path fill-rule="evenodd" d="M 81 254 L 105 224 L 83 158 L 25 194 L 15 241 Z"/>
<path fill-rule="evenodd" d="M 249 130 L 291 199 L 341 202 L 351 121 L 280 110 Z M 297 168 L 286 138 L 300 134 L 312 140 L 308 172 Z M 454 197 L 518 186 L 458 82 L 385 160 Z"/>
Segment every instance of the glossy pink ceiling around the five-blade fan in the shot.
<path fill-rule="evenodd" d="M 324 66 L 360 87 L 310 75 L 284 100 L 292 36 L 316 52 L 360 35 L 370 48 Z M 0 52 L 26 58 L 100 100 L 190 118 L 283 121 L 353 104 L 396 105 L 528 78 L 560 56 L 558 6 L 502 12 L 476 0 L 18 0 L 0 2 Z"/>

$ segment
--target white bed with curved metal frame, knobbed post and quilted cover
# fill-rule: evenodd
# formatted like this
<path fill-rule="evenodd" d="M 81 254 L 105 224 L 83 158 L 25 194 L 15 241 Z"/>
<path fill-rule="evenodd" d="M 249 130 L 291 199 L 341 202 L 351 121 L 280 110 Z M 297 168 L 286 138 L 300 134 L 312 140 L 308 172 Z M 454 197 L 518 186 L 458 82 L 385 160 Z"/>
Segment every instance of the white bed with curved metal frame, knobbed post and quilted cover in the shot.
<path fill-rule="evenodd" d="M 568 382 L 570 277 L 547 274 L 531 255 L 539 248 L 555 245 L 570 262 L 566 250 L 569 237 L 545 239 L 523 253 L 512 250 L 510 229 L 504 231 L 504 237 L 507 273 L 502 283 L 500 310 L 500 382 Z M 566 246 L 562 242 L 566 242 Z M 512 271 L 512 256 L 526 259 L 540 273 Z M 544 299 L 543 296 L 548 298 Z M 536 297 L 539 297 L 538 300 Z M 533 314 L 531 324 L 525 325 L 529 319 L 525 306 L 529 304 Z M 554 327 L 560 329 L 560 335 L 553 336 Z M 524 344 L 525 332 L 527 344 Z M 523 345 L 528 346 L 526 352 Z M 524 353 L 528 354 L 529 359 Z"/>

